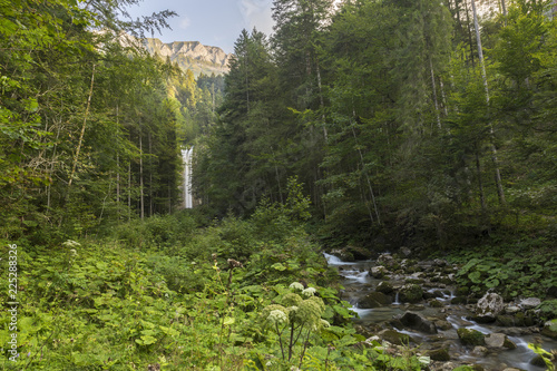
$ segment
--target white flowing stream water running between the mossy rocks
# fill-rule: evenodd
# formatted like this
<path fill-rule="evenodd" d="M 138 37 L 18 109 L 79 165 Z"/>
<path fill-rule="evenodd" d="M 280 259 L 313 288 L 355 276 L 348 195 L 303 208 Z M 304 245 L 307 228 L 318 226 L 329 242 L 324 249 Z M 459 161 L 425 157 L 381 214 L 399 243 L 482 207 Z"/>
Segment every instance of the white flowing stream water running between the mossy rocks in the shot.
<path fill-rule="evenodd" d="M 343 277 L 341 284 L 344 286 L 341 297 L 352 304 L 352 311 L 358 314 L 354 322 L 365 324 L 377 324 L 387 322 L 395 315 L 404 314 L 407 311 L 413 311 L 431 319 L 439 319 L 450 323 L 452 326 L 448 330 L 439 330 L 439 334 L 430 335 L 420 333 L 413 330 L 398 330 L 401 333 L 408 334 L 417 343 L 420 343 L 420 350 L 444 348 L 448 349 L 452 360 L 462 361 L 469 364 L 481 364 L 486 370 L 500 371 L 507 367 L 518 368 L 527 371 L 543 371 L 545 368 L 539 368 L 530 364 L 530 361 L 536 357 L 534 351 L 528 349 L 528 343 L 535 339 L 541 339 L 541 346 L 546 350 L 557 349 L 557 341 L 551 340 L 539 334 L 536 335 L 508 335 L 517 349 L 501 350 L 488 352 L 485 355 L 473 354 L 472 349 L 462 346 L 458 339 L 457 329 L 466 328 L 480 331 L 485 334 L 489 333 L 505 333 L 506 328 L 499 328 L 492 324 L 478 324 L 473 321 L 467 320 L 467 316 L 472 313 L 462 305 L 450 304 L 455 297 L 453 289 L 449 287 L 424 287 L 428 292 L 441 292 L 442 296 L 437 300 L 443 303 L 442 307 L 429 306 L 426 302 L 418 305 L 402 304 L 399 301 L 398 293 L 393 297 L 393 303 L 388 306 L 377 309 L 360 309 L 358 303 L 368 293 L 373 292 L 374 287 L 385 280 L 375 280 L 369 275 L 369 271 L 374 264 L 373 261 L 359 261 L 359 262 L 343 262 L 339 257 L 330 254 L 324 254 L 329 265 L 335 266 L 340 275 Z M 404 276 L 392 276 L 390 282 L 397 286 L 404 283 Z M 508 330 L 508 328 L 507 328 Z M 441 336 L 440 336 L 441 335 Z"/>

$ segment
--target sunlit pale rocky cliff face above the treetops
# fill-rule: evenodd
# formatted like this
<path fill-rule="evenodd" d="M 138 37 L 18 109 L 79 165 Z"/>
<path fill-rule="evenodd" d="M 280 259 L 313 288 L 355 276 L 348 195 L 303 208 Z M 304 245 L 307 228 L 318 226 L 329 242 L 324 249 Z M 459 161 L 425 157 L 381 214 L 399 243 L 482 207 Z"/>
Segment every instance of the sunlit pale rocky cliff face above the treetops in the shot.
<path fill-rule="evenodd" d="M 165 43 L 153 38 L 146 38 L 143 43 L 152 55 L 170 58 L 184 70 L 190 69 L 196 77 L 201 72 L 205 75 L 228 72 L 228 61 L 232 55 L 225 53 L 221 48 L 204 46 L 198 41 Z"/>

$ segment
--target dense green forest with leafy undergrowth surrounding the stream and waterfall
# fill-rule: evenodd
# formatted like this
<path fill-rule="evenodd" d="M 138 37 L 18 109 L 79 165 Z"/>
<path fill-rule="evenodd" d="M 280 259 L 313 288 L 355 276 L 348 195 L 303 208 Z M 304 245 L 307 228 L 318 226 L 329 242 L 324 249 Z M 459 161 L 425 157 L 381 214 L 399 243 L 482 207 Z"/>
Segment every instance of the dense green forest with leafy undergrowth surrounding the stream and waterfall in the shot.
<path fill-rule="evenodd" d="M 2 370 L 444 370 L 323 251 L 450 261 L 555 339 L 557 4 L 477 2 L 274 0 L 195 78 L 136 45 L 170 10 L 0 0 Z"/>

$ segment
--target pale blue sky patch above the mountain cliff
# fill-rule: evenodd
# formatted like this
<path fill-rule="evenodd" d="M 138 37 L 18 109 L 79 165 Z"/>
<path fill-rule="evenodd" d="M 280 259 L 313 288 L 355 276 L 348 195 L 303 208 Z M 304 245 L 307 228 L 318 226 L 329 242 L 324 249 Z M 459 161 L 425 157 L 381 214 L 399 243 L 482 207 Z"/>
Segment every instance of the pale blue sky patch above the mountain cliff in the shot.
<path fill-rule="evenodd" d="M 267 36 L 273 31 L 272 0 L 144 0 L 128 9 L 133 18 L 155 11 L 174 10 L 178 17 L 169 20 L 172 30 L 154 37 L 163 42 L 199 41 L 206 46 L 234 51 L 242 29 L 254 27 Z"/>

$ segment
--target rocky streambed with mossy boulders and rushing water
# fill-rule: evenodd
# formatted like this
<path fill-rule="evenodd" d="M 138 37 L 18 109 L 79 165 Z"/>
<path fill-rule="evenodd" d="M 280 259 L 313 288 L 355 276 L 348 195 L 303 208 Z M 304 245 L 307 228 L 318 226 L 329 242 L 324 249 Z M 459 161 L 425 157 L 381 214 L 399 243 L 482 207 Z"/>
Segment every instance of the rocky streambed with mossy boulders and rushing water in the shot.
<path fill-rule="evenodd" d="M 539 299 L 477 299 L 457 287 L 459 267 L 444 260 L 416 261 L 407 248 L 377 258 L 332 251 L 325 258 L 343 277 L 342 299 L 358 314 L 358 332 L 392 352 L 416 348 L 431 359 L 430 370 L 541 371 L 544 361 L 528 344 L 557 350 L 555 326 L 537 315 Z"/>

